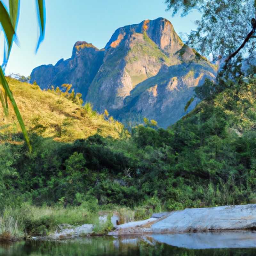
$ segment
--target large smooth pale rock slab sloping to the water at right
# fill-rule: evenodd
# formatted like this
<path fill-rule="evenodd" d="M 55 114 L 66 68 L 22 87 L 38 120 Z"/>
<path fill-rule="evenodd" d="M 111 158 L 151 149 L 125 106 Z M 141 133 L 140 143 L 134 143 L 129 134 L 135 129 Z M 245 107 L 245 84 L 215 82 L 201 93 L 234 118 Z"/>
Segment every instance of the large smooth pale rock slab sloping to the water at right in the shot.
<path fill-rule="evenodd" d="M 174 211 L 160 219 L 120 225 L 113 234 L 169 234 L 256 229 L 256 204 Z"/>

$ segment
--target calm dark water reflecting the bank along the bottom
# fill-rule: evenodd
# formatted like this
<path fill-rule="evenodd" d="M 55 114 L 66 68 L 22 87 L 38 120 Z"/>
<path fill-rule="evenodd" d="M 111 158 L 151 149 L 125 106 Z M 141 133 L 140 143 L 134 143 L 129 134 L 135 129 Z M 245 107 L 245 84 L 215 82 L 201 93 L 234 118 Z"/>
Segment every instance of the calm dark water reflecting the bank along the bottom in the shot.
<path fill-rule="evenodd" d="M 213 236 L 212 236 L 213 235 Z M 215 239 L 215 240 L 214 240 Z M 173 246 L 176 245 L 176 246 Z M 222 248 L 218 248 L 222 247 Z M 228 248 L 228 247 L 232 248 Z M 239 248 L 244 246 L 247 248 Z M 223 248 L 226 247 L 226 248 Z M 197 249 L 195 249 L 197 248 Z M 200 248 L 200 249 L 199 249 Z M 143 237 L 86 237 L 68 241 L 0 244 L 1 256 L 249 256 L 256 233 L 178 234 Z"/>

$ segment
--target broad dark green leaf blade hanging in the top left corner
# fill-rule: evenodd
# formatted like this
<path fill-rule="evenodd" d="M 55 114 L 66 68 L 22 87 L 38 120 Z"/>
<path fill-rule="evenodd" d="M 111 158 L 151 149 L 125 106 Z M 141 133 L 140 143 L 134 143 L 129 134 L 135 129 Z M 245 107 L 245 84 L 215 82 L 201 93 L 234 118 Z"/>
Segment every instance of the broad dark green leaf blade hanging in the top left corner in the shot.
<path fill-rule="evenodd" d="M 4 4 L 1 1 L 0 1 L 0 23 L 4 29 L 4 34 L 7 39 L 7 44 L 8 44 L 7 56 L 9 56 L 11 47 L 12 47 L 12 39 L 15 35 L 15 30 L 12 26 L 12 21 L 9 16 L 9 13 L 5 9 Z"/>

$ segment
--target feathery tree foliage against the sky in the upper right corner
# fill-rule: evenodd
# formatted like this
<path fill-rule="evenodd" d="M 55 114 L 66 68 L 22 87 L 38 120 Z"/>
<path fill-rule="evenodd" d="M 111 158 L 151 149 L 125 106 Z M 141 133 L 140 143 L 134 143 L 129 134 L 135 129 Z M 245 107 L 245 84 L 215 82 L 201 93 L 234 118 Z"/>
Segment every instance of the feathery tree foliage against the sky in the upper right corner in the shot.
<path fill-rule="evenodd" d="M 225 57 L 227 63 L 238 53 L 246 57 L 249 64 L 255 61 L 255 0 L 166 0 L 167 10 L 181 16 L 192 10 L 202 14 L 196 21 L 197 29 L 188 36 L 188 44 L 213 60 Z M 249 53 L 249 54 L 248 54 Z"/>

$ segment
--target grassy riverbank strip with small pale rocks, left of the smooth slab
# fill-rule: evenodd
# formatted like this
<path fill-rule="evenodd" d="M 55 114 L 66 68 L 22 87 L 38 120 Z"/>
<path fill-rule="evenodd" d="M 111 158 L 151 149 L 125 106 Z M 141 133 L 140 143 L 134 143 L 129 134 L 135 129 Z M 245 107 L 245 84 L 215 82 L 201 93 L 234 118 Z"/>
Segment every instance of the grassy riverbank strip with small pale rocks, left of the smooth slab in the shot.
<path fill-rule="evenodd" d="M 116 205 L 100 206 L 93 199 L 80 206 L 66 207 L 62 204 L 34 206 L 24 203 L 16 208 L 5 208 L 0 215 L 0 240 L 15 241 L 35 236 L 52 239 L 60 236 L 66 239 L 87 234 L 106 235 L 117 223 L 147 219 L 152 213 L 153 209 L 149 205 L 134 209 Z"/>

